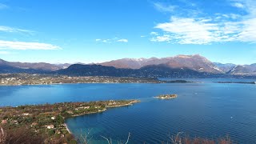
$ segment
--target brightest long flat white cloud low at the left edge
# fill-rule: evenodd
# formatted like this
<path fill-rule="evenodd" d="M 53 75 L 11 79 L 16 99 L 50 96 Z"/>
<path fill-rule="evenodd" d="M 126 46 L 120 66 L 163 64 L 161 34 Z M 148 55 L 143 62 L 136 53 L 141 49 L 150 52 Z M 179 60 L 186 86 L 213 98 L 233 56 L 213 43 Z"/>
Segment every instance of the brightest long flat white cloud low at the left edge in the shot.
<path fill-rule="evenodd" d="M 0 40 L 0 50 L 60 50 L 59 46 L 38 42 L 12 42 Z"/>

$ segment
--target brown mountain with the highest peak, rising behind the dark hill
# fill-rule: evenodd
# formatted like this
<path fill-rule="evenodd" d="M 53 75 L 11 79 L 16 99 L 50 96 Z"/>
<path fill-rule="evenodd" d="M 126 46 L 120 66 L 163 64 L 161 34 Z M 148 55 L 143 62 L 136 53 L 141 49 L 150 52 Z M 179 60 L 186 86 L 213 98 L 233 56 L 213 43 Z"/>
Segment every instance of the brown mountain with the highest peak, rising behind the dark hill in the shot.
<path fill-rule="evenodd" d="M 207 58 L 199 54 L 195 55 L 178 55 L 168 58 L 123 58 L 110 62 L 99 63 L 102 66 L 114 66 L 116 68 L 140 69 L 144 66 L 166 65 L 172 69 L 190 69 L 198 72 L 207 72 L 214 74 L 224 73 L 222 70 L 210 62 Z"/>

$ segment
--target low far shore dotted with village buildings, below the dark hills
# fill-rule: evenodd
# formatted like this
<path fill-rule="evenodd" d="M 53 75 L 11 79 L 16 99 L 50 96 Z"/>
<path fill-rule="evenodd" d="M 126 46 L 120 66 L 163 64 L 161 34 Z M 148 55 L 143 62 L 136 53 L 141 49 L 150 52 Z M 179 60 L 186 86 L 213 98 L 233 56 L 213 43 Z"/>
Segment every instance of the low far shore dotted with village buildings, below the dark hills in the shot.
<path fill-rule="evenodd" d="M 0 74 L 0 86 L 51 85 L 63 83 L 164 83 L 157 78 L 70 77 L 54 74 Z"/>

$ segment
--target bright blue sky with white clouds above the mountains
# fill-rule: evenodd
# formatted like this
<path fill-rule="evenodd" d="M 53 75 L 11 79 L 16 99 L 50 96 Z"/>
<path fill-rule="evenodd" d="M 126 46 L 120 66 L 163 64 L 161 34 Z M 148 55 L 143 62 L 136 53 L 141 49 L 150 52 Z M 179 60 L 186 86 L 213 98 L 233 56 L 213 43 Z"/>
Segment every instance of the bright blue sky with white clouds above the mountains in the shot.
<path fill-rule="evenodd" d="M 91 63 L 201 54 L 256 63 L 254 0 L 0 0 L 0 58 Z"/>

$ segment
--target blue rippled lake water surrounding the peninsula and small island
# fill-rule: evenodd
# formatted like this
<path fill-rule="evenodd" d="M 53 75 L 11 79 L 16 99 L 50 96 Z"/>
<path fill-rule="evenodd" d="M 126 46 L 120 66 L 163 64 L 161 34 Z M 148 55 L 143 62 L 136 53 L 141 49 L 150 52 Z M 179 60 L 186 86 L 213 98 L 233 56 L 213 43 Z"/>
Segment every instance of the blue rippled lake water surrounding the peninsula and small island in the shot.
<path fill-rule="evenodd" d="M 134 106 L 68 118 L 66 123 L 77 138 L 90 130 L 92 143 L 106 143 L 101 136 L 125 142 L 129 133 L 130 143 L 160 143 L 178 132 L 210 139 L 228 134 L 234 142 L 256 143 L 256 85 L 197 81 L 203 83 L 0 86 L 0 106 L 140 99 Z M 178 98 L 158 100 L 158 94 Z"/>

